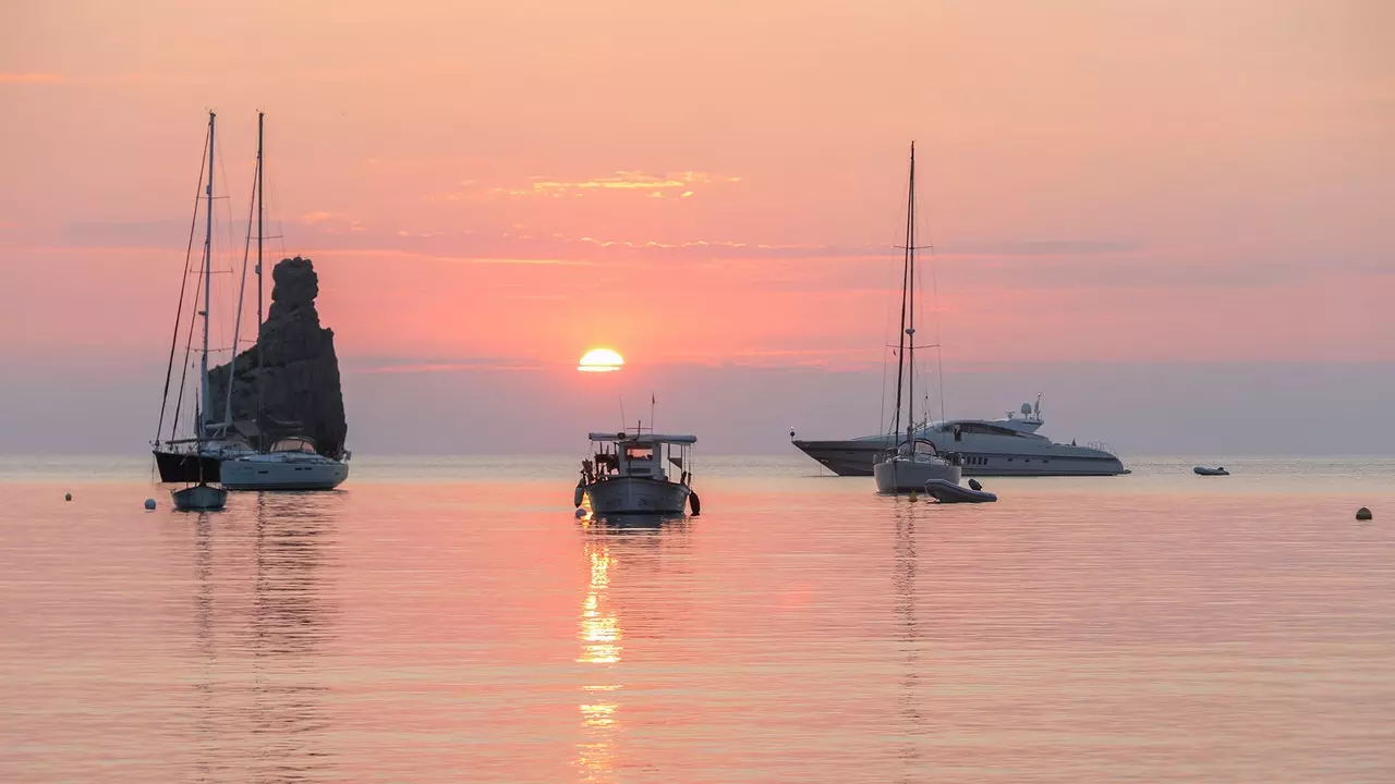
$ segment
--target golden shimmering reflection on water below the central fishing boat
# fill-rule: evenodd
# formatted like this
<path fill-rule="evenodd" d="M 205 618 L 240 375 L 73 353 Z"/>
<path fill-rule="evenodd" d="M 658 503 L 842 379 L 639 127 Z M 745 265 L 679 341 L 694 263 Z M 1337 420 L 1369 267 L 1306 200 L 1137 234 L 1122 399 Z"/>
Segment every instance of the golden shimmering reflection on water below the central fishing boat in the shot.
<path fill-rule="evenodd" d="M 621 698 L 625 688 L 621 660 L 626 629 L 621 618 L 621 600 L 614 589 L 621 571 L 646 576 L 665 541 L 682 543 L 688 522 L 682 516 L 624 515 L 580 519 L 582 555 L 587 569 L 586 591 L 578 618 L 580 654 L 576 661 L 589 672 L 580 686 L 580 741 L 575 766 L 587 781 L 617 780 L 621 731 Z M 631 591 L 646 586 L 628 586 Z M 643 614 L 643 612 L 642 612 Z M 650 636 L 643 635 L 640 638 Z"/>

